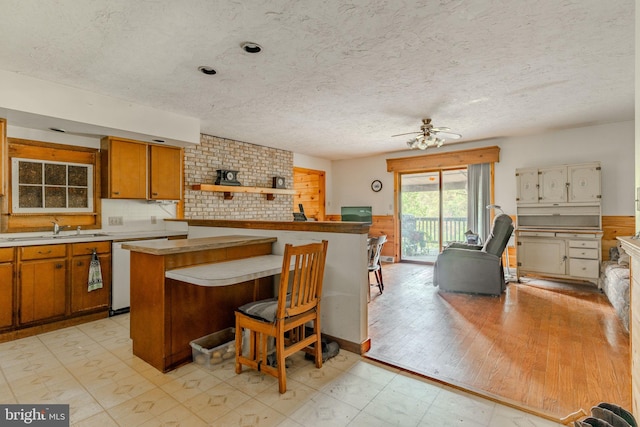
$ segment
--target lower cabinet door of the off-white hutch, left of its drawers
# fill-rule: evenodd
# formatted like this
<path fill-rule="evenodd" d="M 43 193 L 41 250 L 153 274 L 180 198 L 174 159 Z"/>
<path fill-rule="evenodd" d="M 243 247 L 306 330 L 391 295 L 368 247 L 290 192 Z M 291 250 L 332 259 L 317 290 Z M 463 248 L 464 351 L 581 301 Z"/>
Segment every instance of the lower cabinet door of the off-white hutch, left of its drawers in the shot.
<path fill-rule="evenodd" d="M 518 243 L 518 268 L 536 273 L 566 274 L 565 246 L 562 239 L 521 237 Z"/>

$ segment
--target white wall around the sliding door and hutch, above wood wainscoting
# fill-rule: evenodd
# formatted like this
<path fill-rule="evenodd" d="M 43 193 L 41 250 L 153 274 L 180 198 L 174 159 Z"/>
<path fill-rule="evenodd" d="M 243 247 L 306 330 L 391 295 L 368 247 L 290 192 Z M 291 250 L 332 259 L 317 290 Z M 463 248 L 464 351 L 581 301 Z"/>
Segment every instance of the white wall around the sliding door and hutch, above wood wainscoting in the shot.
<path fill-rule="evenodd" d="M 539 135 L 452 144 L 437 150 L 447 152 L 499 146 L 500 162 L 495 165 L 495 202 L 511 215 L 515 215 L 516 210 L 517 168 L 600 161 L 602 214 L 634 215 L 634 126 L 633 121 L 627 121 Z M 333 162 L 335 184 L 332 199 L 327 199 L 327 214 L 339 214 L 340 206 L 371 205 L 374 215 L 391 215 L 394 202 L 393 173 L 387 172 L 386 159 L 427 153 L 404 151 Z M 379 193 L 371 191 L 370 185 L 374 179 L 382 181 L 382 191 Z"/>

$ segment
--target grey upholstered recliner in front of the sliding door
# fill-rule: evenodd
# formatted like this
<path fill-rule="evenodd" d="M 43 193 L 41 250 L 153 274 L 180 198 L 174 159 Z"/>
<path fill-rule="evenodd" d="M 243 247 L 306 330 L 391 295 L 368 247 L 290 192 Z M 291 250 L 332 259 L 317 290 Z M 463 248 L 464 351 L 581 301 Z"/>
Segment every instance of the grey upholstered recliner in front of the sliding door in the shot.
<path fill-rule="evenodd" d="M 436 258 L 433 284 L 441 291 L 500 295 L 506 288 L 502 253 L 513 233 L 507 214 L 493 219 L 484 245 L 452 243 Z"/>

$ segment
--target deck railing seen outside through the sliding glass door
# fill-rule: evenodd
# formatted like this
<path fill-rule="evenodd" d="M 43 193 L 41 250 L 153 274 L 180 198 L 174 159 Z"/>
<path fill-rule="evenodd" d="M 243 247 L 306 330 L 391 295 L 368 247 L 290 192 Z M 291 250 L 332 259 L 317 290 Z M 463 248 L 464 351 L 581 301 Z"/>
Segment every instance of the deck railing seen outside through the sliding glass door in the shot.
<path fill-rule="evenodd" d="M 403 255 L 437 254 L 438 217 L 402 216 L 402 253 Z M 442 219 L 442 244 L 463 242 L 467 231 L 467 218 L 445 217 Z"/>

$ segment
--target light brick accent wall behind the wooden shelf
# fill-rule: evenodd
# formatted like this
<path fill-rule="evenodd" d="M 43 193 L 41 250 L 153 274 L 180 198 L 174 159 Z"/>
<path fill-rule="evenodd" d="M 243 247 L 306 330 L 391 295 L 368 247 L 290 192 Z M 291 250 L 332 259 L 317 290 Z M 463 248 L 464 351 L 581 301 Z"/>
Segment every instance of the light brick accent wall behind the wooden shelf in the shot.
<path fill-rule="evenodd" d="M 185 218 L 293 219 L 293 195 L 278 194 L 267 200 L 264 194 L 232 193 L 233 200 L 224 200 L 224 193 L 191 189 L 193 184 L 215 183 L 217 169 L 237 170 L 238 181 L 246 187 L 271 188 L 271 178 L 283 176 L 287 188 L 293 188 L 292 152 L 201 135 L 199 146 L 184 151 Z"/>

